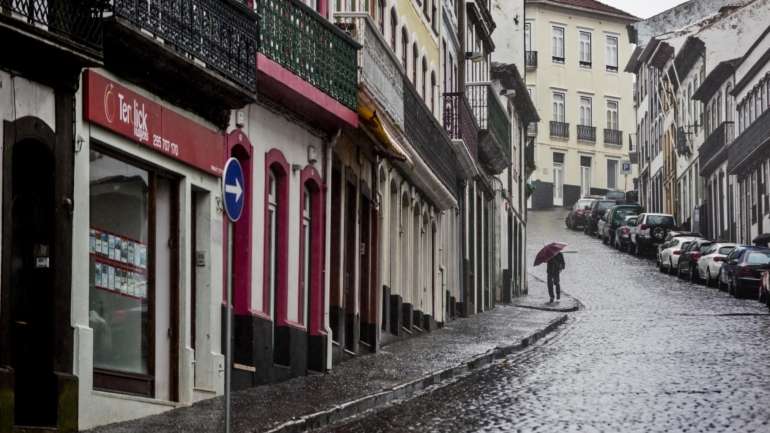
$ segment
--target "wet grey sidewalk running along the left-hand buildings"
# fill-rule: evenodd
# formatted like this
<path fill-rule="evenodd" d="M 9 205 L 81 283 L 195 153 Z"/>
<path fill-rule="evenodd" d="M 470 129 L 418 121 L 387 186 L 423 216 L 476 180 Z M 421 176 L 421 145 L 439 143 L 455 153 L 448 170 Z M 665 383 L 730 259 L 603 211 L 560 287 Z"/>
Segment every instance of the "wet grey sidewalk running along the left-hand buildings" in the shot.
<path fill-rule="evenodd" d="M 449 322 L 432 333 L 387 345 L 378 354 L 337 365 L 328 374 L 236 392 L 232 431 L 295 432 L 337 422 L 520 350 L 566 319 L 558 312 L 497 306 Z M 223 407 L 224 399 L 217 397 L 89 432 L 222 432 Z"/>

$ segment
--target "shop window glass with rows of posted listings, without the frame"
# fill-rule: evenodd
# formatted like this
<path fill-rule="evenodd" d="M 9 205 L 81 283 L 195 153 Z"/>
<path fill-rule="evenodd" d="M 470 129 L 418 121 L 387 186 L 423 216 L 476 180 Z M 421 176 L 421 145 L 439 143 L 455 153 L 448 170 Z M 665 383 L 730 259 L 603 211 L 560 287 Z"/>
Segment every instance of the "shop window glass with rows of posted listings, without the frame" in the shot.
<path fill-rule="evenodd" d="M 90 325 L 94 368 L 149 373 L 150 173 L 90 154 Z"/>

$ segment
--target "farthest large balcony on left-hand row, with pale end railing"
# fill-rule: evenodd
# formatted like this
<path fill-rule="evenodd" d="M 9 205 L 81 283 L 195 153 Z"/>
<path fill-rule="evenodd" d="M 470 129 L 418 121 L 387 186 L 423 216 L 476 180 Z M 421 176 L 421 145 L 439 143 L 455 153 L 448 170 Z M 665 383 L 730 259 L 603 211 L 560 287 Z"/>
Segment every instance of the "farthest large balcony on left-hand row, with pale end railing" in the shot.
<path fill-rule="evenodd" d="M 489 83 L 466 86 L 466 95 L 479 129 L 479 161 L 491 174 L 511 163 L 511 122 Z"/>

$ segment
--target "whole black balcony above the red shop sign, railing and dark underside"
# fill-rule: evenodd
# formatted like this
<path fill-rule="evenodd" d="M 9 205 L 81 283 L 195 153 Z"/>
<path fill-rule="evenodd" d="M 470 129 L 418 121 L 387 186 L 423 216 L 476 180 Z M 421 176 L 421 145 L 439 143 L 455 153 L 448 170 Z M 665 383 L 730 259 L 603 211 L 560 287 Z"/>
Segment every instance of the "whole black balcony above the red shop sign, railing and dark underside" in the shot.
<path fill-rule="evenodd" d="M 113 0 L 105 63 L 224 127 L 254 100 L 257 15 L 230 0 Z"/>

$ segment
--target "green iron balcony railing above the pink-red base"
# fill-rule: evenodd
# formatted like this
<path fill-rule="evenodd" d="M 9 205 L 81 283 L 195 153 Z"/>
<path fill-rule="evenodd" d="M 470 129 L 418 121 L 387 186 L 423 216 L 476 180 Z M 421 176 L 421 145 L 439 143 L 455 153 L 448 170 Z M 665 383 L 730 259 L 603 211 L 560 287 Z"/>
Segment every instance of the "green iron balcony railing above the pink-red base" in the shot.
<path fill-rule="evenodd" d="M 258 0 L 258 50 L 355 110 L 358 44 L 299 0 Z"/>

